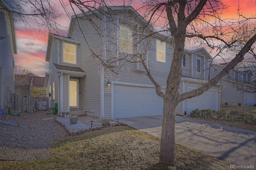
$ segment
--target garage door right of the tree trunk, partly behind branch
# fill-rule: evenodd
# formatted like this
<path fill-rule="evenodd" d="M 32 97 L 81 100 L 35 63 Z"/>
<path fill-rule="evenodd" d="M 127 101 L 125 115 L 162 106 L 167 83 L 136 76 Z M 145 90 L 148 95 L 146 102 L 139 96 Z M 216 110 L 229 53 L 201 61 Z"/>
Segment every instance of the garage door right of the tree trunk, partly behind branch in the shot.
<path fill-rule="evenodd" d="M 216 91 L 206 91 L 198 97 L 188 99 L 188 114 L 195 109 L 217 110 L 217 96 Z"/>

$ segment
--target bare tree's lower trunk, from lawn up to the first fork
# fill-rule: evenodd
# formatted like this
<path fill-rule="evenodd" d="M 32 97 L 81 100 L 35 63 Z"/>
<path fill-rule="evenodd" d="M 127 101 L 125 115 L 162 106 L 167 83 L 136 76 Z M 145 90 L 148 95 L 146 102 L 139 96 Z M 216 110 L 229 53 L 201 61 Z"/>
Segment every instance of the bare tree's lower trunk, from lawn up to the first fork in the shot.
<path fill-rule="evenodd" d="M 170 96 L 170 95 L 169 95 Z M 175 133 L 175 112 L 176 104 L 166 96 L 164 100 L 164 114 L 162 123 L 162 136 L 160 146 L 160 163 L 174 166 L 175 152 L 174 152 L 174 133 Z"/>

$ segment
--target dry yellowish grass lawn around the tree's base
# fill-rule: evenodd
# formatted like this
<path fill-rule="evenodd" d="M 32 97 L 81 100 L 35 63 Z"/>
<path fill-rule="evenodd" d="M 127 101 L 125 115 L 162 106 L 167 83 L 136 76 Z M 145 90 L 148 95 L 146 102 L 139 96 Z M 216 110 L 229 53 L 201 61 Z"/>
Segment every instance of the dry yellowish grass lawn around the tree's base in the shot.
<path fill-rule="evenodd" d="M 1 161 L 4 170 L 223 170 L 230 164 L 176 145 L 176 166 L 159 164 L 160 139 L 128 126 L 109 127 L 52 141 L 44 160 Z"/>

